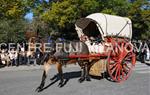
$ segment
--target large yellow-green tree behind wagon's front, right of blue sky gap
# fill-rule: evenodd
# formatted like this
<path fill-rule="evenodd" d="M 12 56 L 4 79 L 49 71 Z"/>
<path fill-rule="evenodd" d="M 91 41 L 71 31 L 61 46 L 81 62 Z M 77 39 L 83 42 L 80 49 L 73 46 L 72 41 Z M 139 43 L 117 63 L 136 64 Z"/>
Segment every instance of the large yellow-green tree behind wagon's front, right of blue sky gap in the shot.
<path fill-rule="evenodd" d="M 60 34 L 74 35 L 72 32 L 74 32 L 76 20 L 90 13 L 97 12 L 98 8 L 98 0 L 63 0 L 51 2 L 50 8 L 41 14 L 40 18 L 49 23 L 53 31 L 60 32 Z"/>

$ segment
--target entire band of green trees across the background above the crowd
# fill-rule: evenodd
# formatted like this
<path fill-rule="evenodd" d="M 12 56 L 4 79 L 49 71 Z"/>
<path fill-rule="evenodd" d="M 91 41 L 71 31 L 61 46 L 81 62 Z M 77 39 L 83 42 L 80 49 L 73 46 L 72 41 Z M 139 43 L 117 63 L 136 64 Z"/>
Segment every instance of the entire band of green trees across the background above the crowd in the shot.
<path fill-rule="evenodd" d="M 24 32 L 30 28 L 40 31 L 42 36 L 66 34 L 73 38 L 76 20 L 96 12 L 129 17 L 133 22 L 133 37 L 149 39 L 148 6 L 148 0 L 1 0 L 0 41 L 25 39 Z M 28 12 L 34 14 L 31 23 L 24 20 Z"/>

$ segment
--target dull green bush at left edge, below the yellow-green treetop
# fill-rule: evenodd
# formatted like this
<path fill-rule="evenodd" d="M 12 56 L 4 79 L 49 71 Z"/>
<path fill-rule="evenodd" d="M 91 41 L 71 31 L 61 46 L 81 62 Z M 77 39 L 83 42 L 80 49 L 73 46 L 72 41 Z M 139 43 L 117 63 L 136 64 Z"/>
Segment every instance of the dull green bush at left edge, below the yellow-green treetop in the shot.
<path fill-rule="evenodd" d="M 18 42 L 24 40 L 26 22 L 18 20 L 0 20 L 0 42 Z"/>

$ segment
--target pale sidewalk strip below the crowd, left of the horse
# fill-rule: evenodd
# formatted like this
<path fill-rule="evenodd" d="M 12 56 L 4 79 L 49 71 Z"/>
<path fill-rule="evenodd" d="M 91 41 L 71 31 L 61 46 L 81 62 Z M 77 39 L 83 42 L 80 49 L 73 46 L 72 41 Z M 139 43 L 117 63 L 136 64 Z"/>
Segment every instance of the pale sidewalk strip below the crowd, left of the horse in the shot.
<path fill-rule="evenodd" d="M 30 65 L 30 66 L 26 66 L 26 65 L 21 65 L 21 66 L 10 66 L 10 67 L 4 67 L 4 68 L 0 68 L 0 72 L 2 71 L 28 71 L 28 70 L 40 70 L 43 69 L 43 65 Z"/>

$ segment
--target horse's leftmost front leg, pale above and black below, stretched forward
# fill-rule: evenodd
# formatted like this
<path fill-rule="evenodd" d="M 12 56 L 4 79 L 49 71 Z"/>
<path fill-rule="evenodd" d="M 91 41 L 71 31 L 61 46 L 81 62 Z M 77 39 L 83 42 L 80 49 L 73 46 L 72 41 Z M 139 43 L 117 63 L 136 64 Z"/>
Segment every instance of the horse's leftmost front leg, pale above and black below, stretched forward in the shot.
<path fill-rule="evenodd" d="M 45 80 L 46 80 L 49 69 L 50 69 L 50 64 L 48 62 L 45 62 L 44 63 L 44 71 L 43 71 L 43 75 L 42 75 L 42 81 L 41 81 L 40 86 L 36 89 L 36 91 L 38 91 L 38 92 L 42 91 L 42 89 L 45 85 Z"/>

